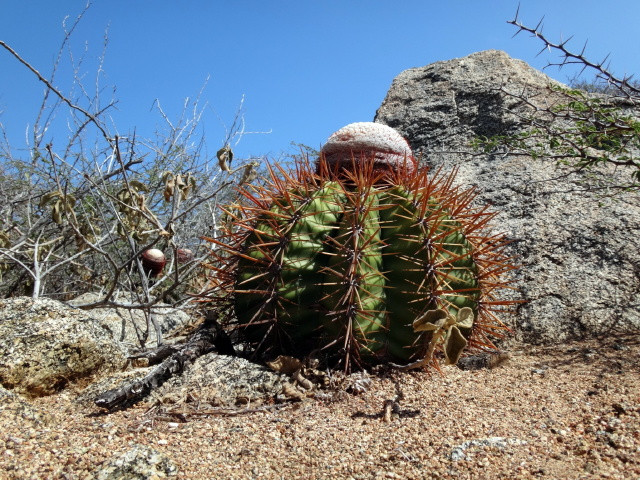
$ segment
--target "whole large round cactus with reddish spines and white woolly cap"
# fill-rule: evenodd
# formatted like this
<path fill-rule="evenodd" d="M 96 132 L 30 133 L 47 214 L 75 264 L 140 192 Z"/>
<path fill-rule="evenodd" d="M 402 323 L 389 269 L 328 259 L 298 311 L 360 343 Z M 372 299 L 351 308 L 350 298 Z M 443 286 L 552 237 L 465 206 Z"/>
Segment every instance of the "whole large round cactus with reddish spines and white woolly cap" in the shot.
<path fill-rule="evenodd" d="M 216 239 L 209 297 L 261 355 L 362 368 L 456 363 L 506 329 L 513 266 L 494 217 L 454 175 L 427 175 L 392 128 L 355 123 L 315 164 L 269 168 Z M 224 300 L 227 300 L 226 307 Z"/>

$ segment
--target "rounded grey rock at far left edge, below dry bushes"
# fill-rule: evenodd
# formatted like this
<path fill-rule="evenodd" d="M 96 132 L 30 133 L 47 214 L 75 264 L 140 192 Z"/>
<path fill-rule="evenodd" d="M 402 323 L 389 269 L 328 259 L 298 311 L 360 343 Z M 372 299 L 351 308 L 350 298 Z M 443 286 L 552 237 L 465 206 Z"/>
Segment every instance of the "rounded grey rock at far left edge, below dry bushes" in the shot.
<path fill-rule="evenodd" d="M 55 300 L 0 300 L 0 384 L 27 396 L 121 369 L 126 350 L 89 313 Z"/>

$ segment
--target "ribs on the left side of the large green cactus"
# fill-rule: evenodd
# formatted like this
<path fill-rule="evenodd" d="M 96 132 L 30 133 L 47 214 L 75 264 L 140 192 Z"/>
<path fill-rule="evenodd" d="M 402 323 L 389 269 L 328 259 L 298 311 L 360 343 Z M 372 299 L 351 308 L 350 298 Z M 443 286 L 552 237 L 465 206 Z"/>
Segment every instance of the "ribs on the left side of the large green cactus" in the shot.
<path fill-rule="evenodd" d="M 339 210 L 334 186 L 327 184 L 279 198 L 259 215 L 239 260 L 235 285 L 235 311 L 252 337 L 276 326 L 274 333 L 297 343 L 317 330 L 318 272 L 327 260 L 320 252 Z"/>

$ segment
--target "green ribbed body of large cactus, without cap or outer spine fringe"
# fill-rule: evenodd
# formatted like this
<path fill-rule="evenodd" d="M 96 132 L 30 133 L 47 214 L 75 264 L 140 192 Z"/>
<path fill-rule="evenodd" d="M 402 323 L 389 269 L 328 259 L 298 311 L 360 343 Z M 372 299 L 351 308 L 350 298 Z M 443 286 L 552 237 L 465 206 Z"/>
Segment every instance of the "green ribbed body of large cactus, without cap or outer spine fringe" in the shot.
<path fill-rule="evenodd" d="M 261 212 L 238 265 L 235 311 L 255 343 L 406 361 L 428 343 L 421 313 L 477 312 L 473 248 L 435 200 L 339 181 L 293 197 Z"/>

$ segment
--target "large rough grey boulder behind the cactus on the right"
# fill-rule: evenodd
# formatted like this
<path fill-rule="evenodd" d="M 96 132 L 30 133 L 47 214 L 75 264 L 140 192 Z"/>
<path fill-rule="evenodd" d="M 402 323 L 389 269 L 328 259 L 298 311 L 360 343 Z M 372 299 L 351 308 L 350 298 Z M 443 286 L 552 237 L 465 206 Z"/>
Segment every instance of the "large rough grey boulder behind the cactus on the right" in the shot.
<path fill-rule="evenodd" d="M 582 174 L 545 158 L 473 155 L 477 135 L 517 131 L 527 92 L 551 101 L 553 81 L 506 53 L 486 51 L 402 72 L 376 121 L 396 128 L 424 161 L 459 169 L 460 185 L 477 186 L 479 203 L 499 213 L 494 224 L 513 240 L 522 265 L 515 329 L 531 342 L 640 329 L 640 196 L 583 191 Z M 547 95 L 545 98 L 544 95 Z M 615 174 L 615 172 L 611 172 Z M 606 193 L 606 192 L 604 192 Z"/>

